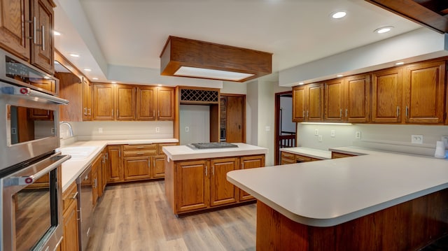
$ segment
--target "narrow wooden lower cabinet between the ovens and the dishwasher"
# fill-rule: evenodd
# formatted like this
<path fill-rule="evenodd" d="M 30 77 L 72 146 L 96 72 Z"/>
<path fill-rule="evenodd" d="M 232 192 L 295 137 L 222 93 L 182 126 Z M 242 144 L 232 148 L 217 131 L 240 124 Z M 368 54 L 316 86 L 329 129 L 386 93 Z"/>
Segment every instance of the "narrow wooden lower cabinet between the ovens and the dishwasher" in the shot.
<path fill-rule="evenodd" d="M 61 248 L 63 251 L 78 251 L 78 190 L 73 182 L 62 194 L 64 238 Z"/>

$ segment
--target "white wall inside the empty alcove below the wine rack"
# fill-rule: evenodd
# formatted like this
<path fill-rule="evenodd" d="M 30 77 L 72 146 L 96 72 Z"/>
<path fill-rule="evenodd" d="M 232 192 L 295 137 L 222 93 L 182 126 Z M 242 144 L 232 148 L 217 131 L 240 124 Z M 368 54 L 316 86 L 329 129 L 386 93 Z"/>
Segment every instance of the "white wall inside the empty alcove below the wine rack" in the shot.
<path fill-rule="evenodd" d="M 210 106 L 181 105 L 180 117 L 181 145 L 210 142 Z"/>

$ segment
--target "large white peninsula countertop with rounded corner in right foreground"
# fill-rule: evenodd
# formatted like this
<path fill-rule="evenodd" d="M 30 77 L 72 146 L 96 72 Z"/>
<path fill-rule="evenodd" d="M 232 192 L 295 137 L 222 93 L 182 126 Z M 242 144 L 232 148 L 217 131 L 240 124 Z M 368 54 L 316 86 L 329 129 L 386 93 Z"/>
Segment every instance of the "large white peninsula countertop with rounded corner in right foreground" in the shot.
<path fill-rule="evenodd" d="M 360 156 L 231 171 L 228 180 L 286 217 L 329 227 L 448 187 L 448 160 L 360 148 Z"/>

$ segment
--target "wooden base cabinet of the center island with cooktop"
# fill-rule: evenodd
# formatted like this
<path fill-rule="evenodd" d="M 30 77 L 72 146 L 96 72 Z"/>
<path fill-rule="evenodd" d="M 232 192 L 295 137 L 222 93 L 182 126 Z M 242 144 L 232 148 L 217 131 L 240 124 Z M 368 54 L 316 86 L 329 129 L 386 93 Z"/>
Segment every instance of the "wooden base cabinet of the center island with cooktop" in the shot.
<path fill-rule="evenodd" d="M 265 166 L 265 155 L 165 161 L 165 193 L 174 214 L 254 200 L 227 180 L 229 171 Z"/>

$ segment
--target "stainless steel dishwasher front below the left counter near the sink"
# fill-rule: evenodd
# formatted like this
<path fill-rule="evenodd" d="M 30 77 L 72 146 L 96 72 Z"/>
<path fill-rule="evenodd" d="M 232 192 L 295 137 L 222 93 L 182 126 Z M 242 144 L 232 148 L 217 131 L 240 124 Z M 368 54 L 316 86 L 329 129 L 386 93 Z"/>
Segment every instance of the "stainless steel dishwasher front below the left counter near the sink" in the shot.
<path fill-rule="evenodd" d="M 78 179 L 78 226 L 79 226 L 79 246 L 82 251 L 86 250 L 92 227 L 92 165 L 88 166 Z"/>

